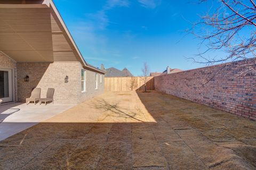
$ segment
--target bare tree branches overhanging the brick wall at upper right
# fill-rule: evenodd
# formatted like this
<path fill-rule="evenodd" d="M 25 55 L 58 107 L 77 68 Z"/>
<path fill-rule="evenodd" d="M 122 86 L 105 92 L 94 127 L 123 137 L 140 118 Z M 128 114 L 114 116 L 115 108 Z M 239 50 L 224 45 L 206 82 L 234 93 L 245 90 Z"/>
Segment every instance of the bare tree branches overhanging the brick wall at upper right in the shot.
<path fill-rule="evenodd" d="M 201 0 L 200 3 L 206 1 Z M 202 21 L 195 23 L 193 29 L 189 31 L 202 40 L 199 53 L 190 59 L 207 65 L 227 63 L 223 64 L 223 69 L 239 67 L 236 76 L 255 75 L 256 2 L 253 0 L 214 2 L 218 3 L 218 7 L 212 7 L 207 11 L 201 16 Z M 224 50 L 227 55 L 207 56 L 208 52 L 214 50 Z M 244 62 L 237 62 L 239 60 Z"/>

